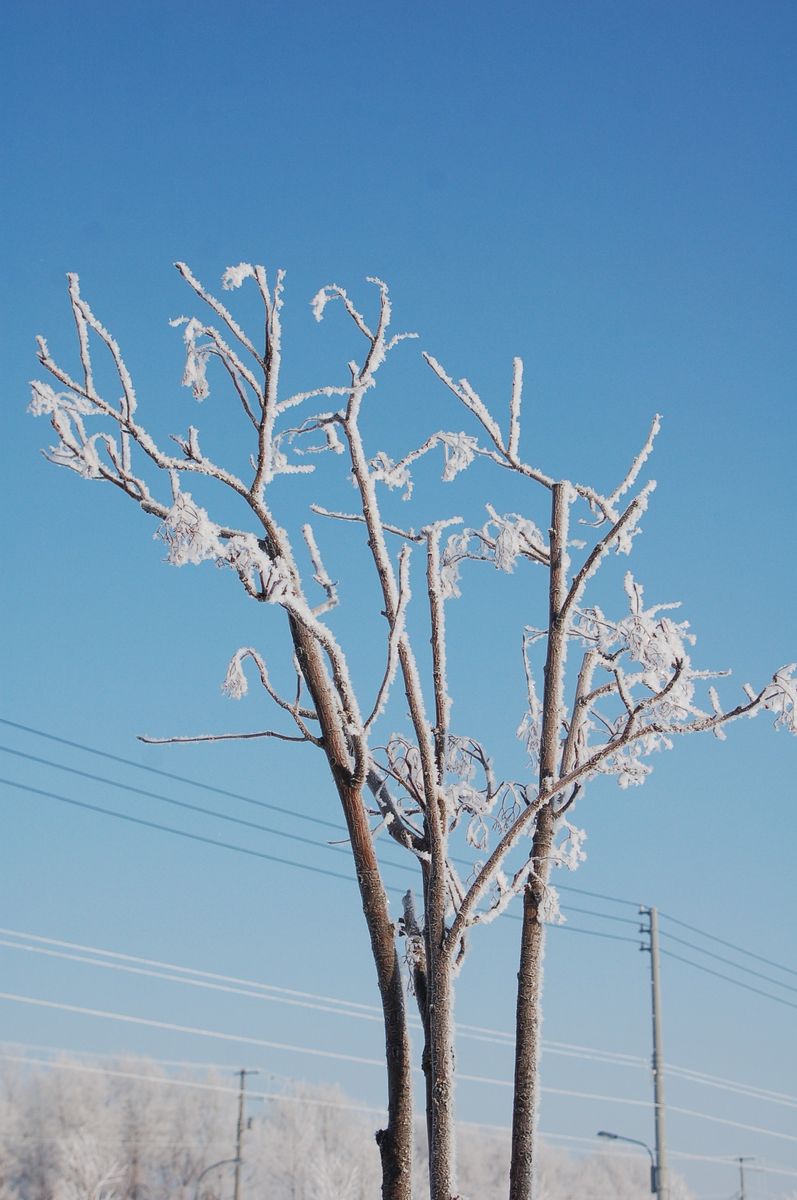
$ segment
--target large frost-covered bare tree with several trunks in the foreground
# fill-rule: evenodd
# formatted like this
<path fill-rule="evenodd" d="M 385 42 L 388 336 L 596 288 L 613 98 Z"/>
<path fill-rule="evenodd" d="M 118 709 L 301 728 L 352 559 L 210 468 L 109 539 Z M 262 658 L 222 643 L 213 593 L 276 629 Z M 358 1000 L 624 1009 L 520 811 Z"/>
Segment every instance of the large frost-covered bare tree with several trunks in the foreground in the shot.
<path fill-rule="evenodd" d="M 693 664 L 694 640 L 688 624 L 673 617 L 677 606 L 649 605 L 630 572 L 618 614 L 589 599 L 588 587 L 609 556 L 628 554 L 640 532 L 654 484 L 640 486 L 639 480 L 658 418 L 613 488 L 555 479 L 533 466 L 521 445 L 520 359 L 507 418 L 499 421 L 467 379 L 453 378 L 424 355 L 448 394 L 445 402 L 450 406 L 454 397 L 457 420 L 468 428 L 435 428 L 433 422 L 414 439 L 402 432 L 406 442 L 397 452 L 371 445 L 366 432 L 374 422 L 365 414 L 388 359 L 414 336 L 391 332 L 382 281 L 370 281 L 374 319 L 337 284 L 318 292 L 316 318 L 322 320 L 335 304 L 361 353 L 332 383 L 310 380 L 305 390 L 284 395 L 283 272 L 270 284 L 264 268 L 242 263 L 223 276 L 224 288 L 245 284 L 259 294 L 264 335 L 256 341 L 185 264 L 178 270 L 203 312 L 174 322 L 185 343 L 182 383 L 197 401 L 208 398 L 214 373 L 226 383 L 250 438 L 238 456 L 245 469 L 211 457 L 193 425 L 173 436 L 175 449 L 163 449 L 146 432 L 120 348 L 82 296 L 77 276 L 70 276 L 70 299 L 78 366 L 61 365 L 40 338 L 38 358 L 49 378 L 34 384 L 31 408 L 49 416 L 55 431 L 48 457 L 85 479 L 113 485 L 138 504 L 157 522 L 168 562 L 226 566 L 252 600 L 284 616 L 290 690 L 277 684 L 277 672 L 253 646 L 233 655 L 224 690 L 240 698 L 251 676 L 259 682 L 283 725 L 258 736 L 304 743 L 324 755 L 346 817 L 384 1013 L 389 1116 L 377 1134 L 384 1200 L 409 1200 L 412 1190 L 412 1060 L 398 938 L 425 1037 L 430 1194 L 432 1200 L 456 1200 L 455 978 L 471 930 L 522 898 L 509 1194 L 510 1200 L 528 1200 L 545 923 L 556 920 L 558 911 L 550 875 L 583 857 L 583 833 L 573 823 L 576 799 L 605 775 L 623 787 L 641 784 L 653 752 L 687 733 L 724 737 L 730 721 L 762 709 L 795 732 L 796 666 L 779 670 L 763 686 L 745 688 L 729 706 L 715 686 L 721 672 Z M 96 382 L 97 346 L 110 356 L 118 401 L 108 400 Z M 441 391 L 441 404 L 444 397 Z M 478 472 L 477 520 L 448 515 L 444 499 L 429 511 L 413 496 L 414 476 L 426 469 L 430 455 L 442 457 L 445 484 L 468 468 Z M 323 503 L 328 490 L 337 494 L 330 484 L 335 463 L 354 485 L 352 510 Z M 514 481 L 522 512 L 502 512 L 493 504 L 491 472 Z M 301 485 L 312 474 L 307 492 Z M 391 496 L 396 490 L 405 510 L 415 504 L 414 522 L 394 515 L 401 505 Z M 579 539 L 571 533 L 575 522 Z M 317 533 L 322 524 L 324 554 Z M 355 557 L 353 546 L 372 572 L 385 622 L 380 661 L 372 648 L 372 678 L 364 684 L 365 672 L 358 668 L 356 688 L 350 662 L 360 646 L 343 644 L 335 612 L 338 596 L 356 605 L 364 592 L 361 574 L 335 582 L 343 563 Z M 546 598 L 547 611 L 535 616 L 539 601 L 529 595 L 528 620 L 519 629 L 516 674 L 525 680 L 526 712 L 511 726 L 520 718 L 531 764 L 520 779 L 498 768 L 479 730 L 453 722 L 445 611 L 466 588 L 472 563 L 508 574 L 519 564 L 528 566 L 540 576 L 539 599 Z M 236 734 L 163 740 L 222 736 Z M 391 918 L 379 874 L 374 839 L 380 830 L 418 865 L 423 904 L 417 906 L 408 892 L 400 923 Z"/>

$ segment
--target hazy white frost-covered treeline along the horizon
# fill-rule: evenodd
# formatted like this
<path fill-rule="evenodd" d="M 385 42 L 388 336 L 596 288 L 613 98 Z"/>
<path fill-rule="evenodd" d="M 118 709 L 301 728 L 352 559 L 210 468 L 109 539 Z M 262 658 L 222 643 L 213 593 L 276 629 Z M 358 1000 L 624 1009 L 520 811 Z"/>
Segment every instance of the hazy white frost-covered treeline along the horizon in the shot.
<path fill-rule="evenodd" d="M 247 1104 L 241 1200 L 378 1200 L 376 1115 L 338 1090 L 268 1076 Z M 200 1085 L 200 1086 L 196 1086 Z M 226 1200 L 238 1093 L 233 1072 L 167 1073 L 143 1058 L 60 1057 L 0 1073 L 0 1200 Z M 415 1195 L 429 1194 L 419 1127 Z M 462 1200 L 505 1200 L 509 1141 L 460 1132 Z M 210 1168 L 210 1170 L 208 1170 Z M 206 1174 L 204 1174 L 206 1172 Z M 647 1163 L 544 1147 L 541 1200 L 646 1200 Z M 689 1200 L 673 1181 L 672 1200 Z"/>

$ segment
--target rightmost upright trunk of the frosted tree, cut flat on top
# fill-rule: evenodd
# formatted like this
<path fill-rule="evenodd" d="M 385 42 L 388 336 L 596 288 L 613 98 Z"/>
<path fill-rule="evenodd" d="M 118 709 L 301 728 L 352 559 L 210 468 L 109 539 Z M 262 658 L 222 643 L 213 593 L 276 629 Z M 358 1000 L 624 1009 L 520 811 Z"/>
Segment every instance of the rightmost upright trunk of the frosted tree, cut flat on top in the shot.
<path fill-rule="evenodd" d="M 567 655 L 567 618 L 563 607 L 567 596 L 568 516 L 568 487 L 565 484 L 555 484 L 550 529 L 549 641 L 540 745 L 539 786 L 541 792 L 551 786 L 559 767 Z M 543 953 L 545 948 L 545 925 L 540 919 L 540 911 L 547 890 L 555 832 L 556 812 L 553 800 L 551 800 L 540 809 L 537 818 L 531 854 L 533 869 L 523 893 L 523 925 L 515 1019 L 515 1094 L 509 1200 L 532 1200 L 534 1186 L 543 1024 Z"/>

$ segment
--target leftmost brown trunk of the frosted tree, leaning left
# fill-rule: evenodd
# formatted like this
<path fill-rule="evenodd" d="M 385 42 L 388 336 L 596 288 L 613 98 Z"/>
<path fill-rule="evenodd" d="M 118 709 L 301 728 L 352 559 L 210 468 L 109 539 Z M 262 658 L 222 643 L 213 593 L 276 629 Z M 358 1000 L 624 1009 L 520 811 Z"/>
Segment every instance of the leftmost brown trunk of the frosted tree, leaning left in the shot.
<path fill-rule="evenodd" d="M 292 619 L 290 626 L 296 656 L 318 713 L 324 751 L 346 817 L 382 1000 L 388 1075 L 388 1124 L 377 1133 L 377 1145 L 382 1157 L 382 1200 L 412 1200 L 412 1057 L 394 923 L 373 848 L 362 792 L 352 784 L 348 746 L 337 709 L 332 703 L 331 685 L 324 668 L 323 655 L 318 644 L 298 622 Z"/>

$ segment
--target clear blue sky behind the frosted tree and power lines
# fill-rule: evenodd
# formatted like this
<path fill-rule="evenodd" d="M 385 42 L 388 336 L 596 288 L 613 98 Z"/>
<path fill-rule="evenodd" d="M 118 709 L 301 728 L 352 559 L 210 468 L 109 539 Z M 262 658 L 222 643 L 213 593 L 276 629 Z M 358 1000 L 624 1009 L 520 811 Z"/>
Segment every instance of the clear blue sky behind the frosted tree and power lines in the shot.
<path fill-rule="evenodd" d="M 132 505 L 41 460 L 47 427 L 24 413 L 36 373 L 34 335 L 72 353 L 64 275 L 77 270 L 126 348 L 152 424 L 178 430 L 218 419 L 212 401 L 197 414 L 178 388 L 179 335 L 167 318 L 190 311 L 190 300 L 175 259 L 208 282 L 241 259 L 286 266 L 287 370 L 300 383 L 336 361 L 330 355 L 342 344 L 340 324 L 318 329 L 307 301 L 322 283 L 336 280 L 354 292 L 372 274 L 391 286 L 397 325 L 419 330 L 424 348 L 485 395 L 505 394 L 511 356 L 521 354 L 526 436 L 534 460 L 555 475 L 609 486 L 661 412 L 652 463 L 659 491 L 634 563 L 648 595 L 682 599 L 701 664 L 732 666 L 739 682 L 760 680 L 797 656 L 793 5 L 413 0 L 222 8 L 205 0 L 188 7 L 77 0 L 4 10 L 0 715 L 336 818 L 323 772 L 301 751 L 137 745 L 139 731 L 258 724 L 253 706 L 235 709 L 220 697 L 218 682 L 236 646 L 262 640 L 262 614 L 210 566 L 164 566 L 151 526 Z M 402 353 L 409 361 L 415 350 Z M 407 380 L 414 415 L 442 403 L 420 368 L 398 379 Z M 529 622 L 540 604 L 534 596 Z M 484 629 L 473 610 L 455 620 L 461 642 Z M 342 628 L 353 636 L 352 624 Z M 490 654 L 485 641 L 474 677 L 489 672 Z M 510 754 L 515 712 L 503 718 L 493 715 L 490 732 Z M 323 835 L 8 727 L 0 727 L 0 743 Z M 569 882 L 658 905 L 793 965 L 796 754 L 793 740 L 761 719 L 732 728 L 724 745 L 679 745 L 655 762 L 641 791 L 597 786 L 579 815 L 589 859 Z M 347 871 L 346 858 L 325 850 L 224 829 L 53 768 L 2 760 L 8 779 Z M 0 924 L 374 998 L 349 883 L 12 788 L 0 811 L 7 864 Z M 391 876 L 397 886 L 403 880 Z M 634 917 L 630 908 L 571 899 Z M 571 923 L 634 936 L 631 925 L 599 918 L 574 913 Z M 509 1027 L 516 932 L 508 920 L 479 940 L 461 985 L 463 1020 Z M 0 953 L 10 991 L 378 1050 L 358 1022 L 322 1014 L 308 1021 L 277 1004 L 186 997 L 166 984 L 131 986 L 112 972 Z M 646 967 L 633 944 L 553 932 L 546 1036 L 646 1055 Z M 793 1008 L 675 960 L 666 962 L 665 996 L 673 1062 L 793 1091 Z M 241 1052 L 5 1002 L 0 1012 L 8 1039 L 230 1066 Z M 278 1074 L 340 1079 L 352 1094 L 379 1100 L 373 1069 L 256 1056 Z M 463 1046 L 461 1062 L 487 1074 L 510 1068 L 507 1051 L 475 1044 Z M 581 1060 L 549 1058 L 546 1082 L 648 1094 L 642 1073 Z M 731 1108 L 727 1093 L 673 1080 L 670 1096 L 684 1108 L 789 1129 L 785 1110 L 751 1100 Z M 507 1118 L 502 1090 L 462 1085 L 460 1099 L 466 1117 Z M 555 1096 L 543 1124 L 585 1136 L 612 1126 L 633 1136 L 652 1132 L 645 1110 Z M 670 1140 L 694 1153 L 756 1153 L 797 1169 L 793 1145 L 729 1127 L 673 1116 Z M 735 1186 L 730 1176 L 691 1170 L 702 1193 Z M 753 1195 L 779 1195 L 786 1183 L 772 1176 L 766 1193 L 760 1180 Z"/>

